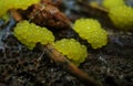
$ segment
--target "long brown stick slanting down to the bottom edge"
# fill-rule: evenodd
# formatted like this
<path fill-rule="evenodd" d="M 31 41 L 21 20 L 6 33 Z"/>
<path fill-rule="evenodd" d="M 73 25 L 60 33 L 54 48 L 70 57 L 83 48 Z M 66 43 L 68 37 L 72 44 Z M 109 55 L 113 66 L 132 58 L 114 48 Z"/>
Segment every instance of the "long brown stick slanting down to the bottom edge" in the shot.
<path fill-rule="evenodd" d="M 101 82 L 95 80 L 93 77 L 89 76 L 86 73 L 78 68 L 73 63 L 66 60 L 59 51 L 57 51 L 51 44 L 45 45 L 45 53 L 49 57 L 61 65 L 65 71 L 78 77 L 80 80 L 85 83 L 88 86 L 102 86 Z"/>

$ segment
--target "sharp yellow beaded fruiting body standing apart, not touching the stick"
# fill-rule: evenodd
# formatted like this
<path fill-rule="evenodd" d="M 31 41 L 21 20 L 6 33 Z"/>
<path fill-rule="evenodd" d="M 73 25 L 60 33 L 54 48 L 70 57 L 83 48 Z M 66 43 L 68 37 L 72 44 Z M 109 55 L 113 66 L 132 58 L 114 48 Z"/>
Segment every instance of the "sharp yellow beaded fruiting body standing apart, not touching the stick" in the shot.
<path fill-rule="evenodd" d="M 75 21 L 73 29 L 83 40 L 86 40 L 93 49 L 102 47 L 108 43 L 108 32 L 101 28 L 98 20 L 79 19 Z"/>

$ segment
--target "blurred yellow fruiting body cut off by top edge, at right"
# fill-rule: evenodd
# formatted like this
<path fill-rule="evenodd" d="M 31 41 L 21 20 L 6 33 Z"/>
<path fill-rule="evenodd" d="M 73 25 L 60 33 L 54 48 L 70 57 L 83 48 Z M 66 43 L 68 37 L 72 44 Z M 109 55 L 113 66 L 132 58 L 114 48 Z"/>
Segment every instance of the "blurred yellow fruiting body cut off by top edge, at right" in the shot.
<path fill-rule="evenodd" d="M 103 0 L 103 7 L 108 10 L 121 6 L 125 6 L 124 0 Z"/>

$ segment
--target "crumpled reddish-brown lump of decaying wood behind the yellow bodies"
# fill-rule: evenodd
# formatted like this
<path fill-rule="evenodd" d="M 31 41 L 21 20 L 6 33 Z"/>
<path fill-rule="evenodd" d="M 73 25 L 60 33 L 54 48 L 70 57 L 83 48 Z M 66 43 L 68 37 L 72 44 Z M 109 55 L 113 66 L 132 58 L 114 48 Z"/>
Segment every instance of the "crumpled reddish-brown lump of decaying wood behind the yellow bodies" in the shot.
<path fill-rule="evenodd" d="M 68 28 L 70 20 L 52 4 L 35 4 L 32 11 L 28 14 L 38 25 L 52 28 Z"/>

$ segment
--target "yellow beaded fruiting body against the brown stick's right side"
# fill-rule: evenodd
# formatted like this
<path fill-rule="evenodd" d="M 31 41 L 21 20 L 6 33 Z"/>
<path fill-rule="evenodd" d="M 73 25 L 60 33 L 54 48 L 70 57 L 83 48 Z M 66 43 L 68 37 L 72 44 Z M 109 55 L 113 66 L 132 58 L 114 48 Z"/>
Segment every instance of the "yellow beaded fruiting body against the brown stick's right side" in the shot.
<path fill-rule="evenodd" d="M 76 65 L 84 62 L 88 56 L 86 47 L 74 39 L 62 39 L 53 43 L 53 46 Z"/>

